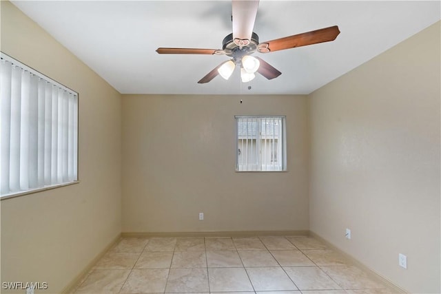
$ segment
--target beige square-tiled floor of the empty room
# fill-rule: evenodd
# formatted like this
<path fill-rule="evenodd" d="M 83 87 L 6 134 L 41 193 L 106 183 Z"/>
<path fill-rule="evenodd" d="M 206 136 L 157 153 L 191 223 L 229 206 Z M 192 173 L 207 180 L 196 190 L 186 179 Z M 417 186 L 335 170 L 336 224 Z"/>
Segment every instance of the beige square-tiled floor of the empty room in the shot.
<path fill-rule="evenodd" d="M 74 293 L 393 293 L 306 236 L 123 238 Z"/>

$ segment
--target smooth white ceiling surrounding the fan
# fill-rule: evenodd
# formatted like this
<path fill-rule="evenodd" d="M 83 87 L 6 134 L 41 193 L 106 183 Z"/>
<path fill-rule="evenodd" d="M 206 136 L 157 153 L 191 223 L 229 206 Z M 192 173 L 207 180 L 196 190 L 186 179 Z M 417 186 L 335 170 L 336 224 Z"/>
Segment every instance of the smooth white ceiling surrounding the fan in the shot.
<path fill-rule="evenodd" d="M 240 83 L 216 76 L 227 56 L 157 54 L 221 49 L 231 1 L 12 1 L 123 94 L 309 94 L 440 20 L 440 1 L 261 0 L 260 42 L 338 25 L 336 41 L 258 54 L 283 74 Z M 248 86 L 252 86 L 248 90 Z"/>

